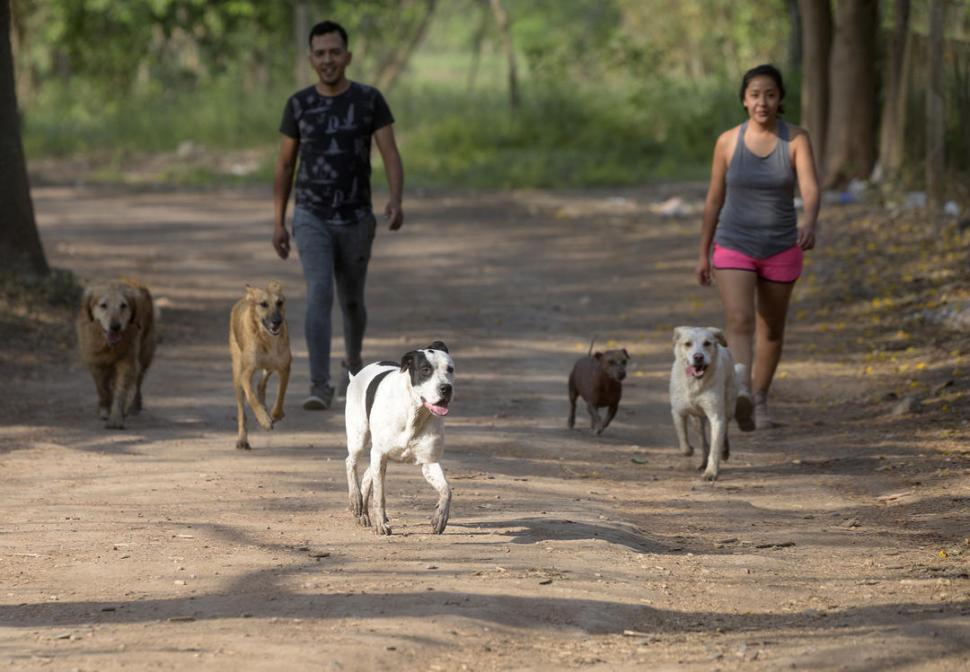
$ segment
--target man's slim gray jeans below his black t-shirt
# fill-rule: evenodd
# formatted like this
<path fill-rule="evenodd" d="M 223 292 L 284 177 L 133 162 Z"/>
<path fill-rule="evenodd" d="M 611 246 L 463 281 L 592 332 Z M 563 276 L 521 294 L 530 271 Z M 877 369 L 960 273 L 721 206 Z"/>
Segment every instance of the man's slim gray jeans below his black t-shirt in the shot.
<path fill-rule="evenodd" d="M 305 331 L 312 394 L 330 385 L 334 282 L 344 318 L 345 362 L 351 371 L 360 368 L 367 327 L 364 284 L 376 229 L 373 215 L 355 224 L 334 226 L 303 208 L 293 212 L 293 237 L 307 285 Z"/>

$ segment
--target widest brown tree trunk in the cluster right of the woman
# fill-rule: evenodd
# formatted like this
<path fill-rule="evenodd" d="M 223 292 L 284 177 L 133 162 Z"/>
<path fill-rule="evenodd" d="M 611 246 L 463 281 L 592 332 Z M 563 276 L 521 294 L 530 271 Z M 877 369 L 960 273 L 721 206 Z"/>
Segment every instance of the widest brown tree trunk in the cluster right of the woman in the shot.
<path fill-rule="evenodd" d="M 829 62 L 829 116 L 822 183 L 868 177 L 875 162 L 878 0 L 839 0 Z"/>

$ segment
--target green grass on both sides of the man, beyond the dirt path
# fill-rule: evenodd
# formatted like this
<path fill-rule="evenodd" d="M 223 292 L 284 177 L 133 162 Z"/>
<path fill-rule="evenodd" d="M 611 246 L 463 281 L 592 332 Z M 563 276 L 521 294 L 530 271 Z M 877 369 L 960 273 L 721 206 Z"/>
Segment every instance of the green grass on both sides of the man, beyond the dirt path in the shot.
<path fill-rule="evenodd" d="M 739 119 L 731 86 L 632 77 L 560 87 L 523 81 L 523 102 L 513 113 L 495 63 L 483 63 L 474 89 L 462 68 L 432 65 L 387 96 L 410 186 L 578 188 L 702 178 L 717 133 Z M 150 179 L 172 186 L 268 184 L 292 90 L 245 88 L 226 79 L 109 96 L 83 82 L 49 86 L 27 110 L 25 146 L 31 158 L 98 157 L 84 176 L 96 182 L 131 181 L 126 166 L 137 157 L 173 152 L 186 141 L 210 155 L 258 148 L 264 158 L 247 175 L 174 160 Z M 378 170 L 379 163 L 375 152 Z"/>

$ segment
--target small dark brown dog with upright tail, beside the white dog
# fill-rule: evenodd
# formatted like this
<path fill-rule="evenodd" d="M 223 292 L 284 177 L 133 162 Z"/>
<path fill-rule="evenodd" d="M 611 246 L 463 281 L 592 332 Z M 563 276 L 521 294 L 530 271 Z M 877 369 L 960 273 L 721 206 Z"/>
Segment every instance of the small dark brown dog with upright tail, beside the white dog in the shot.
<path fill-rule="evenodd" d="M 630 355 L 626 348 L 593 352 L 590 341 L 589 352 L 581 357 L 569 374 L 569 428 L 576 424 L 576 397 L 582 397 L 589 409 L 590 429 L 602 434 L 607 428 L 623 395 L 623 379 L 626 378 L 626 363 Z M 606 420 L 600 419 L 598 408 L 609 408 Z"/>

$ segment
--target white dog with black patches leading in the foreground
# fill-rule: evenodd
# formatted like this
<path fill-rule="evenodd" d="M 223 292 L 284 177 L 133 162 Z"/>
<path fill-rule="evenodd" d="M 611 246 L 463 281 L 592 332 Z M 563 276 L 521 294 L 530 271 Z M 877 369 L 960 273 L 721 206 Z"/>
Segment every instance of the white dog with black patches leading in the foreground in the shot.
<path fill-rule="evenodd" d="M 370 527 L 368 502 L 374 495 L 374 529 L 390 534 L 384 512 L 384 475 L 387 461 L 420 464 L 424 478 L 438 491 L 431 517 L 435 534 L 444 532 L 451 506 L 451 488 L 439 460 L 445 449 L 443 417 L 454 396 L 455 363 L 447 346 L 435 341 L 406 353 L 400 364 L 368 364 L 352 376 L 347 387 L 347 487 L 350 510 Z M 370 466 L 362 483 L 357 462 L 370 447 Z"/>

